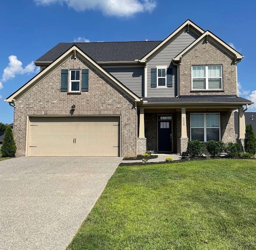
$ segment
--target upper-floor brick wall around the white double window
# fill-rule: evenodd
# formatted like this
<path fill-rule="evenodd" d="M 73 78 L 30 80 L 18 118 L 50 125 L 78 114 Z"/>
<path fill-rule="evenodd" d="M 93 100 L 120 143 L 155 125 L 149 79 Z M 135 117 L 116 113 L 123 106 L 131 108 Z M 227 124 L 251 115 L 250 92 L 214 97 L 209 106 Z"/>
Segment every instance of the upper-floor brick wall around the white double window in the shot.
<path fill-rule="evenodd" d="M 222 65 L 223 90 L 192 91 L 192 65 Z M 180 95 L 236 95 L 236 65 L 221 48 L 204 40 L 182 57 Z"/>

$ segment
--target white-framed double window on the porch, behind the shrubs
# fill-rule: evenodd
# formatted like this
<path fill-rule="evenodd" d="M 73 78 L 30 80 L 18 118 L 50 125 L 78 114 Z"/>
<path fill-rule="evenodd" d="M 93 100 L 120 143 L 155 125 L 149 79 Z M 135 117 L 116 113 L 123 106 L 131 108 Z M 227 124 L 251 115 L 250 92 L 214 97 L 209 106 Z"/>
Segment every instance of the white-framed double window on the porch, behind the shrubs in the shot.
<path fill-rule="evenodd" d="M 220 115 L 219 114 L 191 114 L 190 139 L 199 141 L 220 140 Z"/>

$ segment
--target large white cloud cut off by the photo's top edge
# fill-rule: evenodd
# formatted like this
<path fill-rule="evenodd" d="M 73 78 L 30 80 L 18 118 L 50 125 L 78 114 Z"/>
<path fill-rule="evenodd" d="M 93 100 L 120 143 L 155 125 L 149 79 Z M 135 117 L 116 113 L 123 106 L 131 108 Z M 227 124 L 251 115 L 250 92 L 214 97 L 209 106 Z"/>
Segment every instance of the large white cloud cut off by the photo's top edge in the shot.
<path fill-rule="evenodd" d="M 77 12 L 100 10 L 108 16 L 128 17 L 139 12 L 152 12 L 156 0 L 34 0 L 38 5 L 63 4 Z"/>

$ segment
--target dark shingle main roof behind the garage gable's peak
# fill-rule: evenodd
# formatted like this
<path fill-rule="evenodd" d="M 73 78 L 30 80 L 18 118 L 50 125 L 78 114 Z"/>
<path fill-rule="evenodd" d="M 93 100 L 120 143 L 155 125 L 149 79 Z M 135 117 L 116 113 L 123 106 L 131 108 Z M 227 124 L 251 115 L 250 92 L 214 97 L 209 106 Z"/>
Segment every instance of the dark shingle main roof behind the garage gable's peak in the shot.
<path fill-rule="evenodd" d="M 92 42 L 92 43 L 59 43 L 54 48 L 38 58 L 40 61 L 54 61 L 73 45 L 96 62 L 134 61 L 143 58 L 162 41 L 140 42 Z"/>

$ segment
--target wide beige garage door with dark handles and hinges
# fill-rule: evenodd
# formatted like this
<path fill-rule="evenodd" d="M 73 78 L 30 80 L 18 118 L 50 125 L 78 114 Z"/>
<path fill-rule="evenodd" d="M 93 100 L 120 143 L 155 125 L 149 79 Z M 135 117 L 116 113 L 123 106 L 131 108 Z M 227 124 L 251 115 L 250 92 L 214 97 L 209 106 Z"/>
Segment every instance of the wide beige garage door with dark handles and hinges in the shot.
<path fill-rule="evenodd" d="M 28 156 L 119 156 L 119 117 L 30 117 Z"/>

